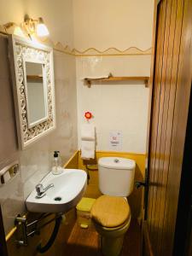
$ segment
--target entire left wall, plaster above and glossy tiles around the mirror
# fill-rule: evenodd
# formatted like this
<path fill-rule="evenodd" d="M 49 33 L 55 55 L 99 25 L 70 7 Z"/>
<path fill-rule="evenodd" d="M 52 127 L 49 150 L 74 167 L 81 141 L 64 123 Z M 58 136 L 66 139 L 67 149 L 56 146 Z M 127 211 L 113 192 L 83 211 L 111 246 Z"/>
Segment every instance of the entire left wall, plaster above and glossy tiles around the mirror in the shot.
<path fill-rule="evenodd" d="M 71 0 L 60 1 L 58 4 L 54 1 L 1 0 L 0 6 L 1 24 L 9 21 L 20 23 L 26 12 L 32 15 L 32 18 L 43 16 L 46 23 L 48 22 L 51 39 L 54 32 L 55 41 L 63 39 L 64 43 L 73 43 Z M 61 14 L 63 14 L 62 22 Z M 18 159 L 20 172 L 13 180 L 0 187 L 0 203 L 6 233 L 13 228 L 15 216 L 26 211 L 26 196 L 50 171 L 53 151 L 61 151 L 64 163 L 78 148 L 75 57 L 54 51 L 56 130 L 30 148 L 20 151 L 17 146 L 12 88 L 9 83 L 7 48 L 7 40 L 2 39 L 0 43 L 0 169 L 12 160 Z"/>

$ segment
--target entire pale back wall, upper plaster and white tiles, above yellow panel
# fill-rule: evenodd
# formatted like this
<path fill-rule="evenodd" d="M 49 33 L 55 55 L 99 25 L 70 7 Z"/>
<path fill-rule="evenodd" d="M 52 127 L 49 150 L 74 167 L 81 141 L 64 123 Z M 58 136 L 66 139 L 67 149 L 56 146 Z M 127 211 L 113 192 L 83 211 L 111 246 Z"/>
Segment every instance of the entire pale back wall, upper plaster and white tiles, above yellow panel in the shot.
<path fill-rule="evenodd" d="M 73 0 L 76 49 L 129 47 L 149 49 L 152 39 L 154 0 Z M 84 112 L 91 111 L 96 125 L 97 150 L 110 151 L 109 133 L 122 132 L 119 151 L 145 153 L 148 89 L 143 82 L 113 82 L 84 86 L 83 78 L 102 76 L 149 76 L 150 55 L 102 55 L 76 58 L 79 148 Z"/>

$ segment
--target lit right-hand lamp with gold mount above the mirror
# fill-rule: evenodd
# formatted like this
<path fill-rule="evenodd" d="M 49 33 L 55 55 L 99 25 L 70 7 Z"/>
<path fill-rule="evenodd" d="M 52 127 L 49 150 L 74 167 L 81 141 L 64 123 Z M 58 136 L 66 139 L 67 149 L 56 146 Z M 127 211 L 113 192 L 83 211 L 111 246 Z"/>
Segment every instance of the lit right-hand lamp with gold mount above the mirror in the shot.
<path fill-rule="evenodd" d="M 41 17 L 38 18 L 38 20 L 33 20 L 26 15 L 22 26 L 30 38 L 34 33 L 36 33 L 39 38 L 49 36 L 49 30 L 47 26 L 45 26 L 44 20 Z"/>

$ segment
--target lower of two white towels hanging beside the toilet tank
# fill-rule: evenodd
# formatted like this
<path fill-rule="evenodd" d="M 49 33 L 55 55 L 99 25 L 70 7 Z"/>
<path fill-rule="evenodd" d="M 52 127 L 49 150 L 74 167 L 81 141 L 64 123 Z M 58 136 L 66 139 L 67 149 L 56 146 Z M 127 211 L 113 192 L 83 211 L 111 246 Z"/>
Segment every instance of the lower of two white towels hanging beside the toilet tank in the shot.
<path fill-rule="evenodd" d="M 95 141 L 81 141 L 81 158 L 90 160 L 95 158 Z"/>

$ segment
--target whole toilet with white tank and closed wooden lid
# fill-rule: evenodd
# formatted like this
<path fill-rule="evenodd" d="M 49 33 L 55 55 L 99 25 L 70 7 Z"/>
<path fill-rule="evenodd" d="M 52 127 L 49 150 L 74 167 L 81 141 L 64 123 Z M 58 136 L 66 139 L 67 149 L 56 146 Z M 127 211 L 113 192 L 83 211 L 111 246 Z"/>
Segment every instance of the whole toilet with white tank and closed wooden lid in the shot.
<path fill-rule="evenodd" d="M 118 256 L 125 232 L 131 223 L 131 210 L 126 199 L 134 186 L 136 162 L 119 157 L 98 160 L 99 189 L 102 195 L 91 208 L 91 218 L 101 236 L 102 254 Z"/>

